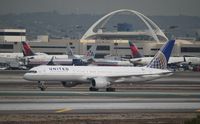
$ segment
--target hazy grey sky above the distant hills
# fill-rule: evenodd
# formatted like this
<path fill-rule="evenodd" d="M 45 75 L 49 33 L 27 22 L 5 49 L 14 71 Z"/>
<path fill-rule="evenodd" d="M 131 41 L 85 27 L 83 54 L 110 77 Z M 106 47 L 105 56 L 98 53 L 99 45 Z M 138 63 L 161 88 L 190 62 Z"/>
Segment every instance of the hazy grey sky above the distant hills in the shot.
<path fill-rule="evenodd" d="M 200 0 L 0 0 L 0 14 L 58 11 L 105 14 L 133 9 L 145 15 L 200 16 Z"/>

